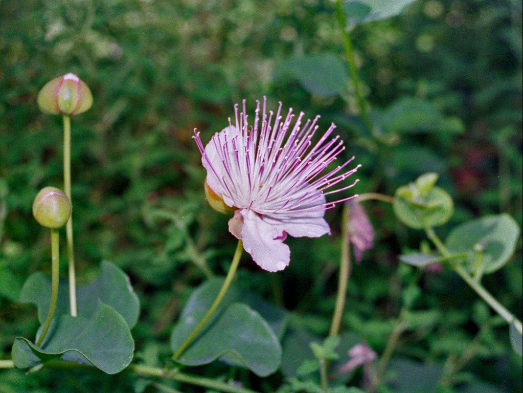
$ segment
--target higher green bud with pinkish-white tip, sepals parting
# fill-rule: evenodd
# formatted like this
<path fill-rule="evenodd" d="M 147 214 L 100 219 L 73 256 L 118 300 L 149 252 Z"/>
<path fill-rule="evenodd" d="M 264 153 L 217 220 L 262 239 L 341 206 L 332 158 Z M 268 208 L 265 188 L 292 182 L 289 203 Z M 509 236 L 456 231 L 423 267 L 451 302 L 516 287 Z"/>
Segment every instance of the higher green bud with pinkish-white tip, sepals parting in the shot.
<path fill-rule="evenodd" d="M 78 115 L 93 105 L 89 87 L 69 73 L 46 83 L 38 93 L 38 107 L 50 115 Z"/>

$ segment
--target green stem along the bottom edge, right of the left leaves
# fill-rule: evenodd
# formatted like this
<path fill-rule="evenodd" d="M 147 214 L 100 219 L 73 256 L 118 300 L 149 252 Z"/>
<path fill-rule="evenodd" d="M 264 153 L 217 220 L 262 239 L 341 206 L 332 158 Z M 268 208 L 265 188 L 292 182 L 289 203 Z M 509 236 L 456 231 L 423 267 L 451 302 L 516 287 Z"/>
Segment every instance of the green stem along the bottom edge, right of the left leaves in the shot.
<path fill-rule="evenodd" d="M 226 393 L 257 393 L 254 390 L 246 389 L 234 385 L 230 385 L 225 382 L 217 381 L 210 378 L 204 378 L 200 376 L 194 376 L 189 374 L 180 373 L 177 369 L 166 370 L 158 367 L 143 366 L 140 364 L 132 364 L 126 368 L 126 370 L 146 377 L 159 377 L 177 380 L 179 382 L 202 386 L 207 389 L 220 390 Z"/>

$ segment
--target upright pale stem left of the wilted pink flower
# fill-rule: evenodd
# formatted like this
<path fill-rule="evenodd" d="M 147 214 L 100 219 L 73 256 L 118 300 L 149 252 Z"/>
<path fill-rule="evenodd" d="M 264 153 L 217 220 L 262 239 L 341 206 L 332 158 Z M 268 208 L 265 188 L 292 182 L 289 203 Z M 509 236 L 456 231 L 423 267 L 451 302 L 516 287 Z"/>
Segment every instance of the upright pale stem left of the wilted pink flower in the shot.
<path fill-rule="evenodd" d="M 338 293 L 336 294 L 336 305 L 334 306 L 329 336 L 334 336 L 339 333 L 343 311 L 345 309 L 345 299 L 347 297 L 347 283 L 350 275 L 350 240 L 348 233 L 350 209 L 348 204 L 343 205 L 342 215 L 342 250 L 339 259 Z"/>

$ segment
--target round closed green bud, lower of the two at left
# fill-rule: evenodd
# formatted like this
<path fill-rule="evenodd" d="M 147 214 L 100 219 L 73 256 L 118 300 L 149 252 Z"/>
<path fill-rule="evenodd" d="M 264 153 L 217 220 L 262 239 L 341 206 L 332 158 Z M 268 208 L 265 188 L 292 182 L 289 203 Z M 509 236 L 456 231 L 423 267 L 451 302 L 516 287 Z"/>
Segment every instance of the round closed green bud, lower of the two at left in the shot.
<path fill-rule="evenodd" d="M 61 189 L 44 187 L 33 201 L 33 216 L 42 227 L 62 227 L 71 217 L 71 201 Z"/>

